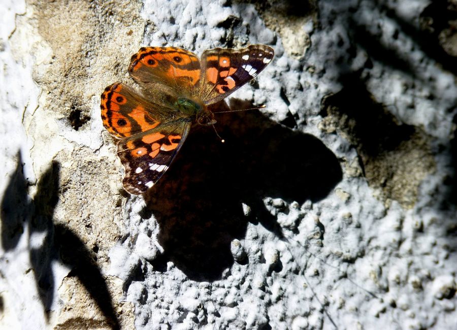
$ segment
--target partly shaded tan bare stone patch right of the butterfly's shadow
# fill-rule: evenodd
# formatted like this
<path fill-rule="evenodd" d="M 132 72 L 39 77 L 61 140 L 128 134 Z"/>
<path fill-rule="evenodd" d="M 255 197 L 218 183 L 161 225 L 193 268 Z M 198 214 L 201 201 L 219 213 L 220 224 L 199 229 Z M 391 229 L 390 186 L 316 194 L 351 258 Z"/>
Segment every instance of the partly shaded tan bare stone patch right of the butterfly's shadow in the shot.
<path fill-rule="evenodd" d="M 364 174 L 374 195 L 386 206 L 395 200 L 412 208 L 420 183 L 435 171 L 430 137 L 419 127 L 397 123 L 367 91 L 361 90 L 356 97 L 350 93 L 343 89 L 325 98 L 327 116 L 319 128 L 327 133 L 336 130 L 357 150 L 363 168 L 353 159 L 346 162 L 346 175 Z"/>

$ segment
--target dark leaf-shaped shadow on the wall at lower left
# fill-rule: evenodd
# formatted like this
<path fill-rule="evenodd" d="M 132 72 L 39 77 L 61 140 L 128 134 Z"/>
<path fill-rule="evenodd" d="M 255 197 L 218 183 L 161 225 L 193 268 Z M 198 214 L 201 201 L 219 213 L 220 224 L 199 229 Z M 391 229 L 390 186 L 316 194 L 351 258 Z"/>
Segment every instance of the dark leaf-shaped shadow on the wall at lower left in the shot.
<path fill-rule="evenodd" d="M 106 324 L 118 329 L 119 321 L 112 305 L 112 297 L 94 261 L 96 257 L 71 228 L 53 223 L 59 194 L 60 163 L 53 161 L 41 176 L 33 199 L 28 197 L 28 183 L 22 167 L 22 158 L 18 153 L 16 171 L 0 204 L 2 248 L 5 251 L 18 248 L 22 236 L 28 234 L 30 264 L 47 320 L 56 285 L 52 266 L 57 261 L 71 268 L 67 276 L 80 280 L 105 315 Z M 40 244 L 36 244 L 36 235 L 42 238 Z M 32 241 L 35 244 L 31 245 Z"/>

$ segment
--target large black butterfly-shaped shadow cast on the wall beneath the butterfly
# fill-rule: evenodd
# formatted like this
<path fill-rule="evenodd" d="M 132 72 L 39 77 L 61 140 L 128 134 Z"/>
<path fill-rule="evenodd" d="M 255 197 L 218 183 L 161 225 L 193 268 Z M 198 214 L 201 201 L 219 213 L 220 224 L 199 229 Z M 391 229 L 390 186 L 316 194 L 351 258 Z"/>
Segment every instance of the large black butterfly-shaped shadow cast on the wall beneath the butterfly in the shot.
<path fill-rule="evenodd" d="M 216 114 L 216 119 L 225 142 L 211 127 L 192 127 L 171 168 L 145 194 L 143 210 L 145 217 L 152 213 L 157 219 L 165 250 L 152 261 L 155 269 L 173 261 L 201 281 L 220 279 L 233 264 L 231 242 L 245 236 L 248 222 L 260 222 L 282 237 L 265 197 L 315 202 L 342 179 L 336 156 L 311 135 L 257 110 Z"/>

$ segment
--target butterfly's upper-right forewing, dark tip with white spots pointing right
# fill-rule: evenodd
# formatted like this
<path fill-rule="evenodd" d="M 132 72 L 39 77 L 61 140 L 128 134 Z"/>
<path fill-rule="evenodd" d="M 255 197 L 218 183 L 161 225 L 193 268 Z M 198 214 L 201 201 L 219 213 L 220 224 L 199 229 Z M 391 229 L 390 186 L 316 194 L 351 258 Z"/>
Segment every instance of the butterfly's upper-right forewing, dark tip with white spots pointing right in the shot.
<path fill-rule="evenodd" d="M 199 97 L 206 105 L 222 100 L 264 70 L 273 56 L 273 48 L 265 45 L 205 51 Z"/>

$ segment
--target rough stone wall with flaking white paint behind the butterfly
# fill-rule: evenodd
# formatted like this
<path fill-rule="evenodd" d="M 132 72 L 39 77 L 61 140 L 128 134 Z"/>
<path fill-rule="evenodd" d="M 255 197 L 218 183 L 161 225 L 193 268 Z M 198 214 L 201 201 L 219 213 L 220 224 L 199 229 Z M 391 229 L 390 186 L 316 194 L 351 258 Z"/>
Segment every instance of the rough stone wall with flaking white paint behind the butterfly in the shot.
<path fill-rule="evenodd" d="M 0 7 L 1 328 L 455 328 L 455 1 L 294 4 Z M 100 94 L 130 56 L 253 43 L 228 105 L 266 108 L 123 191 Z"/>

